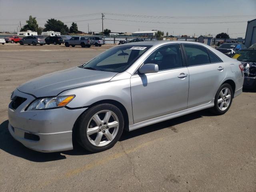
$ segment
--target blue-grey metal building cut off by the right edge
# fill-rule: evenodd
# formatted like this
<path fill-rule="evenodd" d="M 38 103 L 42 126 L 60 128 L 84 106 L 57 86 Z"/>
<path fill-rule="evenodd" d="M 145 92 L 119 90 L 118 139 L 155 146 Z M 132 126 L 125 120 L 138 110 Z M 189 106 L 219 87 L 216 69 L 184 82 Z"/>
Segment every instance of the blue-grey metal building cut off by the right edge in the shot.
<path fill-rule="evenodd" d="M 248 21 L 244 40 L 244 45 L 246 47 L 249 47 L 254 43 L 256 43 L 256 19 Z"/>

